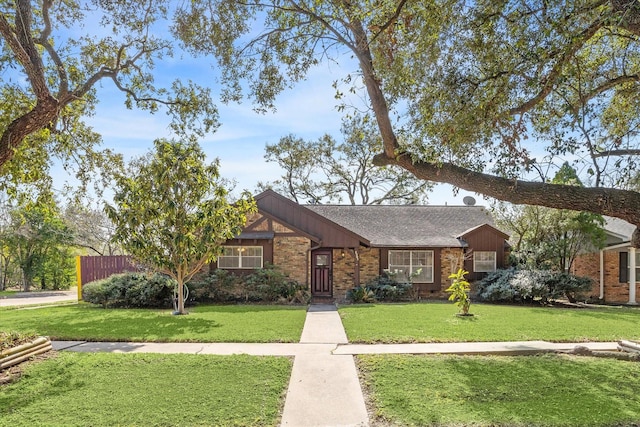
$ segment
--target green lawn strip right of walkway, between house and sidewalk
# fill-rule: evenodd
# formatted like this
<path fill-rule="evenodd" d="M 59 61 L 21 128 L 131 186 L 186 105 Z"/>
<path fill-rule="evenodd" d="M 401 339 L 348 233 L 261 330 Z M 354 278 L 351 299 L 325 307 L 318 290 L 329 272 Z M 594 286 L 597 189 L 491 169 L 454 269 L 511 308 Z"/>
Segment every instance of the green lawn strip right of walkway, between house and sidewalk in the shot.
<path fill-rule="evenodd" d="M 340 308 L 351 342 L 616 341 L 640 338 L 638 308 L 543 308 L 473 304 L 473 317 L 446 303 Z"/>

